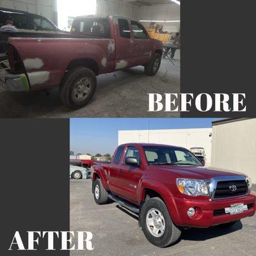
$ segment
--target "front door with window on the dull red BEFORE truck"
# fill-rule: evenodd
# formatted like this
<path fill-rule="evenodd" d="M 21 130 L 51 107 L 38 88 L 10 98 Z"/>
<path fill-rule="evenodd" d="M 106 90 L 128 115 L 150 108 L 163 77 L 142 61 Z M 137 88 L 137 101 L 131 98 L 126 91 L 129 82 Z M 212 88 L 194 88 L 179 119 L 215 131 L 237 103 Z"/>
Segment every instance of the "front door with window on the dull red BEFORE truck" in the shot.
<path fill-rule="evenodd" d="M 148 36 L 146 29 L 134 20 L 131 20 L 132 45 L 133 45 L 133 65 L 143 65 L 150 61 L 153 54 L 152 40 Z"/>

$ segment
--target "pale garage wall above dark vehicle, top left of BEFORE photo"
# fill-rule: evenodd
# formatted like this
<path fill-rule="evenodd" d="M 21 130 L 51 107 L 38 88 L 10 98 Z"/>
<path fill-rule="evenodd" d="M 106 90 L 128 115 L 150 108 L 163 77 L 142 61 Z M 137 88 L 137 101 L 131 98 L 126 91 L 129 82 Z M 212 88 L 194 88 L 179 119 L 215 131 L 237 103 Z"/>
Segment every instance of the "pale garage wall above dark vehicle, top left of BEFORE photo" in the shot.
<path fill-rule="evenodd" d="M 57 24 L 56 0 L 0 0 L 0 7 L 36 13 Z"/>

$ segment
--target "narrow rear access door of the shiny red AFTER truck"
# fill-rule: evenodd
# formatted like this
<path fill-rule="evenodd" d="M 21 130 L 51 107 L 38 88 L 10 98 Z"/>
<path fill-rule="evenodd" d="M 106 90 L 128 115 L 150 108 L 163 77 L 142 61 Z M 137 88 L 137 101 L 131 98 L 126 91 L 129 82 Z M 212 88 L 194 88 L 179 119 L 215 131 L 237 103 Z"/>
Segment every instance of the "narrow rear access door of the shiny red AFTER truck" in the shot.
<path fill-rule="evenodd" d="M 120 169 L 120 161 L 122 159 L 122 156 L 124 154 L 125 147 L 118 147 L 115 156 L 113 158 L 113 161 L 111 162 L 111 166 L 109 167 L 109 173 L 108 173 L 108 182 L 109 182 L 109 189 L 111 192 L 118 194 L 120 192 L 119 189 L 119 182 L 118 182 L 118 172 Z"/>

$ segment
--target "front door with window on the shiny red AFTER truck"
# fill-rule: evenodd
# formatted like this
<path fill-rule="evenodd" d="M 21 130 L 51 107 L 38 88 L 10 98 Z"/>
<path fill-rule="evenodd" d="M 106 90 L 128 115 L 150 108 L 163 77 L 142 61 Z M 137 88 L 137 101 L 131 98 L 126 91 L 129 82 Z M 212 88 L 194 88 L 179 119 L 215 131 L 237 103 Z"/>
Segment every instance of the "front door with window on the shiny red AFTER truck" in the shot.
<path fill-rule="evenodd" d="M 136 157 L 138 166 L 129 166 L 125 164 L 127 157 Z M 140 168 L 141 159 L 140 152 L 137 147 L 127 147 L 125 150 L 124 158 L 120 164 L 118 171 L 118 183 L 120 184 L 120 195 L 131 202 L 138 202 L 137 191 L 141 176 L 145 171 Z"/>

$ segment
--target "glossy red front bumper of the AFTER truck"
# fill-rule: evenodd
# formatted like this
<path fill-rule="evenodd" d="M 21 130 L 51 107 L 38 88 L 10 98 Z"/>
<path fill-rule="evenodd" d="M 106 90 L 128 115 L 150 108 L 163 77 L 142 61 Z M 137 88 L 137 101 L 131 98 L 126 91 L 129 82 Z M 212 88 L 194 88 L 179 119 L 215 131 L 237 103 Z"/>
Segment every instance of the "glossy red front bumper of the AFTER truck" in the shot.
<path fill-rule="evenodd" d="M 228 198 L 223 200 L 188 200 L 184 198 L 175 197 L 175 204 L 179 214 L 179 220 L 176 225 L 183 227 L 211 227 L 221 223 L 228 223 L 230 221 L 240 220 L 242 218 L 250 217 L 255 214 L 256 197 L 253 195 L 240 196 L 237 198 Z M 230 207 L 232 204 L 243 203 L 250 205 L 250 209 L 240 214 L 214 214 L 214 211 L 223 210 L 225 207 Z M 253 206 L 252 206 L 253 205 Z M 196 214 L 189 218 L 187 211 L 190 207 L 196 209 Z"/>

